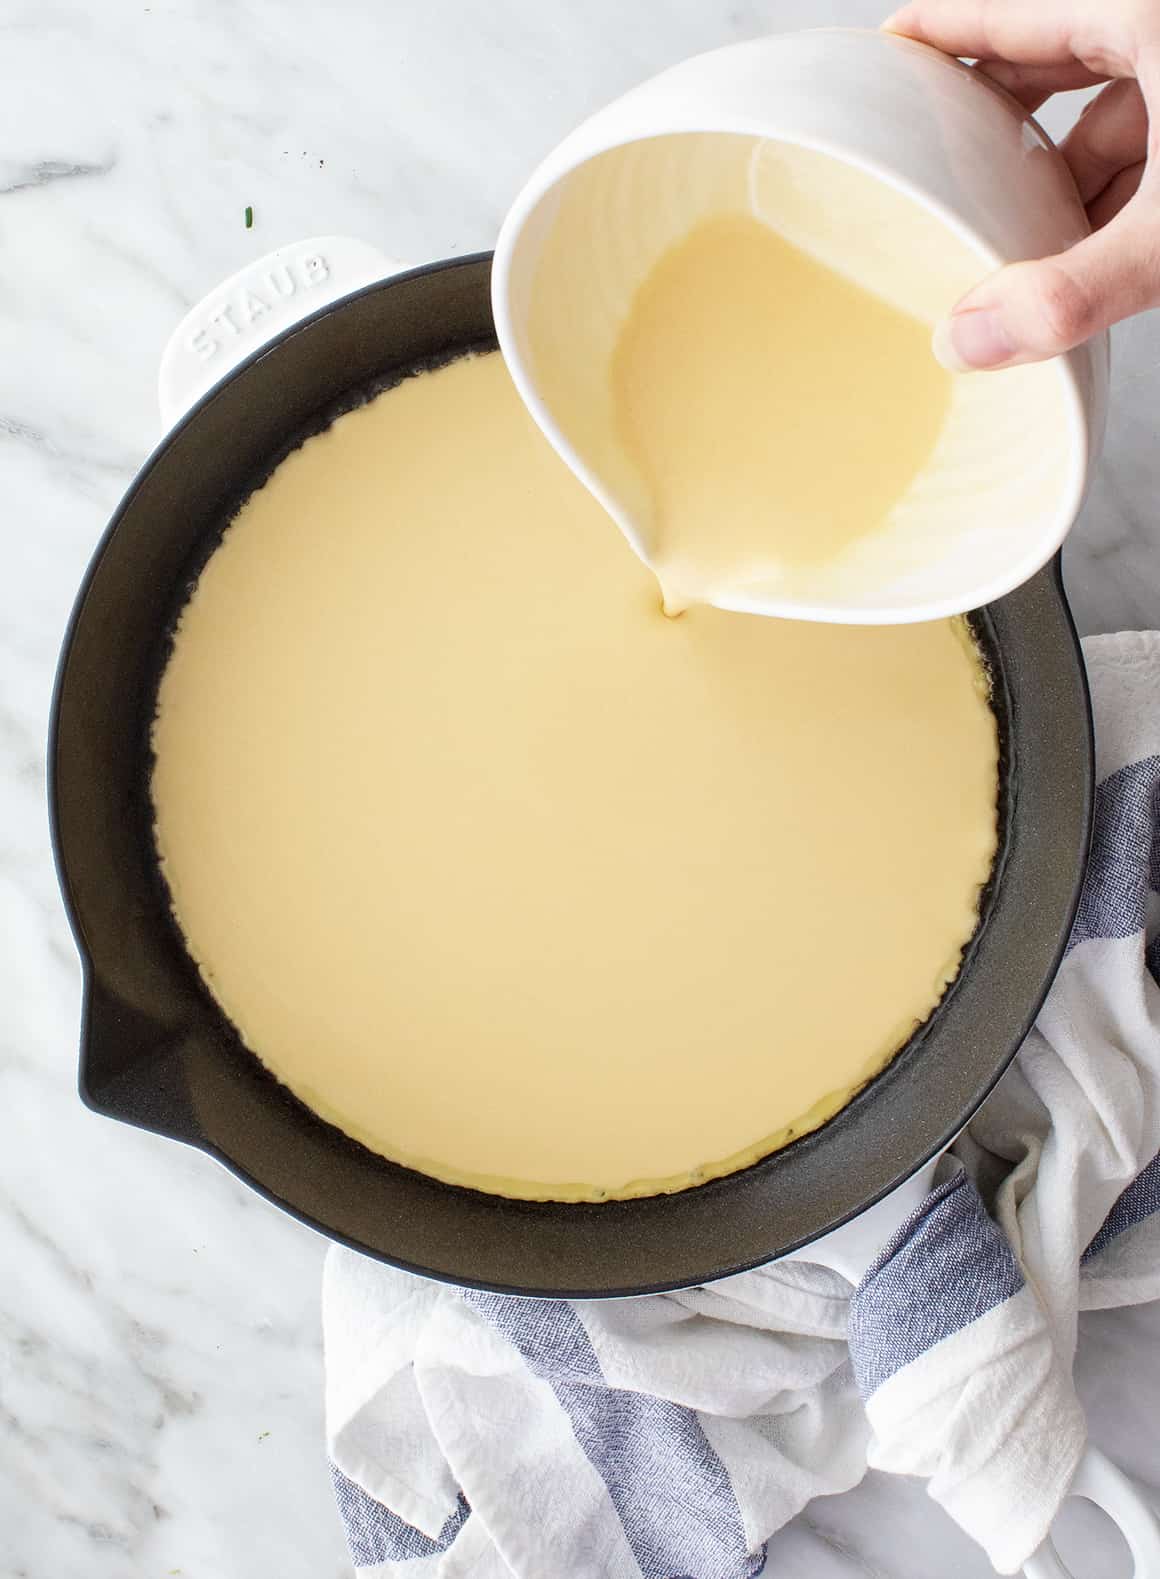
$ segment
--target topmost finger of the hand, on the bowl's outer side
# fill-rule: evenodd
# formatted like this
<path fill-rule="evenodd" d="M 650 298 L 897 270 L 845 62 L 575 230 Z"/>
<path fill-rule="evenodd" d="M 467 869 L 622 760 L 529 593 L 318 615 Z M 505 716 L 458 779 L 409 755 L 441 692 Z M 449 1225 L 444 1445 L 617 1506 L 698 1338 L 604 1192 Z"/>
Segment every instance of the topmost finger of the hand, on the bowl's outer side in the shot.
<path fill-rule="evenodd" d="M 1067 6 L 1042 0 L 912 0 L 882 27 L 972 60 L 1018 60 L 1029 66 L 1073 58 Z M 1064 17 L 1061 21 L 1061 16 Z"/>

